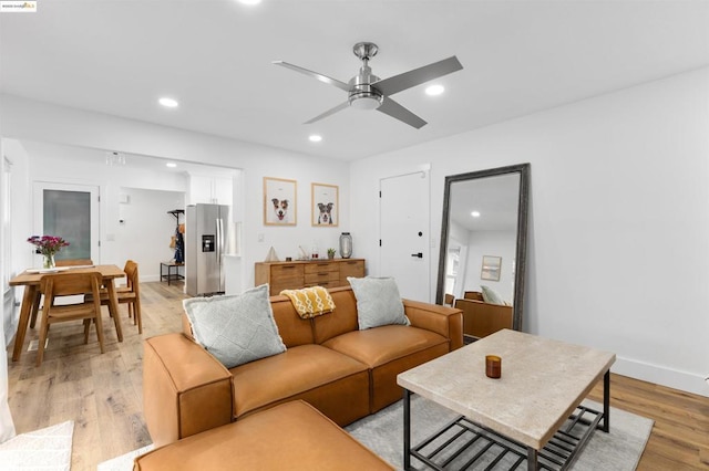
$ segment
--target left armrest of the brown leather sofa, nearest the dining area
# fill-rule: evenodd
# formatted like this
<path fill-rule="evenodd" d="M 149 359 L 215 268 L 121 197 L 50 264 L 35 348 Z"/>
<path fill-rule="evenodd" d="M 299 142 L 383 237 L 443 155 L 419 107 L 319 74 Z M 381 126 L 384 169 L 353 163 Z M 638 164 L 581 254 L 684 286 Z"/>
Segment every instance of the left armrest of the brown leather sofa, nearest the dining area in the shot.
<path fill-rule="evenodd" d="M 232 421 L 232 374 L 183 334 L 147 338 L 143 411 L 156 447 Z"/>

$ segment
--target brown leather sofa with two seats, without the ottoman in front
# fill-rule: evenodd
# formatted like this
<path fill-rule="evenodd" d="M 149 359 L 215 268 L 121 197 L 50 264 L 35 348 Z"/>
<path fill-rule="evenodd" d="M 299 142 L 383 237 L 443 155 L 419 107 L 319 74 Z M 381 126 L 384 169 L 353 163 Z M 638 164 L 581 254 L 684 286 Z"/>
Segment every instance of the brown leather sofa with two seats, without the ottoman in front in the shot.
<path fill-rule="evenodd" d="M 411 326 L 358 329 L 351 287 L 330 290 L 336 310 L 300 318 L 286 296 L 271 307 L 287 349 L 227 369 L 183 333 L 145 341 L 143 404 L 156 447 L 301 399 L 339 426 L 401 398 L 397 375 L 463 345 L 461 311 L 404 300 Z"/>

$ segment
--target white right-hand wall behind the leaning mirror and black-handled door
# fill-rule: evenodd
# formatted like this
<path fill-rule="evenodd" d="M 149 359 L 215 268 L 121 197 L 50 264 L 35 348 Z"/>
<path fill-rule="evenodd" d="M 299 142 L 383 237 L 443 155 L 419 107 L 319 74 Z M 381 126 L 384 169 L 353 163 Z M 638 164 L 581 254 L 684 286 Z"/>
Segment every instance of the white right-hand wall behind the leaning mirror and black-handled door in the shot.
<path fill-rule="evenodd" d="M 353 163 L 352 232 L 373 274 L 378 181 L 427 163 L 432 233 L 446 175 L 532 164 L 525 331 L 707 395 L 709 69 Z"/>

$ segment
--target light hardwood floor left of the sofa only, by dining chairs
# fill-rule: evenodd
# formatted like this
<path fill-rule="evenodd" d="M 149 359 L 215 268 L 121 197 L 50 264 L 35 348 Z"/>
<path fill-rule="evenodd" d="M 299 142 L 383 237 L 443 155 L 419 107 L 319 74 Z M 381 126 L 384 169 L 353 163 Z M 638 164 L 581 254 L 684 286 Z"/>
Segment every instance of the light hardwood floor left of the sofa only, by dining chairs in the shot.
<path fill-rule="evenodd" d="M 29 329 L 19 362 L 9 362 L 9 402 L 18 433 L 73 420 L 72 471 L 95 470 L 107 459 L 151 443 L 143 420 L 143 338 L 179 332 L 183 283 L 141 283 L 143 335 L 121 305 L 123 342 L 104 312 L 105 353 L 92 328 L 83 343 L 80 322 L 53 325 L 40 367 L 27 352 L 39 328 Z M 39 324 L 39 323 L 38 323 Z M 8 349 L 11 357 L 12 346 Z M 1 467 L 0 467 L 1 468 Z"/>

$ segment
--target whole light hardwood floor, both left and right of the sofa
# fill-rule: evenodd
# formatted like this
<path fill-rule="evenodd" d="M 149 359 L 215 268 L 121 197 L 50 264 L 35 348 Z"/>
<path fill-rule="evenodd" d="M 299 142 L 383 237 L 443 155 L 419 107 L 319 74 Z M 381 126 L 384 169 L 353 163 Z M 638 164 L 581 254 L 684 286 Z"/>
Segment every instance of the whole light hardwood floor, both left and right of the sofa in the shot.
<path fill-rule="evenodd" d="M 101 461 L 151 442 L 142 414 L 143 338 L 182 328 L 182 283 L 141 283 L 143 335 L 123 314 L 124 341 L 104 322 L 106 347 L 95 332 L 83 344 L 80 323 L 52 326 L 42 366 L 27 352 L 9 365 L 9 402 L 18 433 L 74 420 L 72 471 L 95 470 Z M 104 312 L 107 320 L 107 312 Z M 11 355 L 11 346 L 9 348 Z M 614 407 L 655 420 L 639 470 L 709 469 L 709 398 L 612 375 Z M 590 398 L 602 400 L 596 387 Z M 612 418 L 613 427 L 613 418 Z M 605 471 L 605 470 L 604 470 Z"/>

